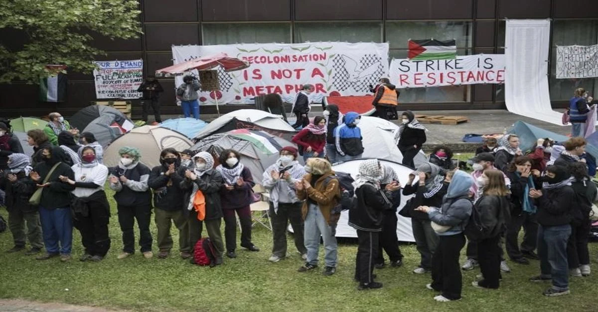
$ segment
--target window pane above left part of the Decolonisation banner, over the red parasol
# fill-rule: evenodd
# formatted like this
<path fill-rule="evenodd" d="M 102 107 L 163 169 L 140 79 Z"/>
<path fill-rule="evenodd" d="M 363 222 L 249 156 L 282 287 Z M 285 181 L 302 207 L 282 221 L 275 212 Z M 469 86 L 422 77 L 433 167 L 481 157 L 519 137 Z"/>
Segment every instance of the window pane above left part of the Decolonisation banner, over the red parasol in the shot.
<path fill-rule="evenodd" d="M 202 24 L 203 45 L 291 43 L 290 23 Z"/>

